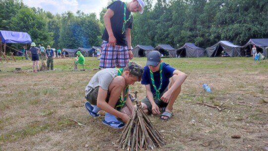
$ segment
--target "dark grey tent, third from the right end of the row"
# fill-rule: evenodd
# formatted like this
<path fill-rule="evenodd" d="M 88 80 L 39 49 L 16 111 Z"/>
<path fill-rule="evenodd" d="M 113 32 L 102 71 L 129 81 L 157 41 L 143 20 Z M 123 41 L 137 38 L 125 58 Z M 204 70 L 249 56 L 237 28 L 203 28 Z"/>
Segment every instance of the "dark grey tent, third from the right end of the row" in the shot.
<path fill-rule="evenodd" d="M 203 57 L 204 49 L 197 47 L 194 43 L 185 43 L 185 45 L 177 50 L 180 57 Z"/>

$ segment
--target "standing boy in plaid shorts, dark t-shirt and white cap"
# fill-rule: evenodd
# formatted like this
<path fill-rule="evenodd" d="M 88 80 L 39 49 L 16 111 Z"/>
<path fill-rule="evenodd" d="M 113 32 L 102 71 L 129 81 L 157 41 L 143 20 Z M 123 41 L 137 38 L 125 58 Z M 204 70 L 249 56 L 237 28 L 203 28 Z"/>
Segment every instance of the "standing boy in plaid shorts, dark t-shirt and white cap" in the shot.
<path fill-rule="evenodd" d="M 143 1 L 117 0 L 110 4 L 104 15 L 105 30 L 102 35 L 100 68 L 124 68 L 133 59 L 131 49 L 131 12 L 143 13 Z"/>

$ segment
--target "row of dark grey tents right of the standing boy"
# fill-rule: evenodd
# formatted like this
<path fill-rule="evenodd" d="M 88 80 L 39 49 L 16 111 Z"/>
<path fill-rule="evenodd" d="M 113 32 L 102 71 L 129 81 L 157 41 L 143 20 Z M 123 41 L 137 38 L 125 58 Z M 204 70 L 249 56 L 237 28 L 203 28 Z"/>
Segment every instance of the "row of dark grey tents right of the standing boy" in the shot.
<path fill-rule="evenodd" d="M 244 46 L 234 45 L 229 41 L 219 41 L 215 45 L 206 49 L 197 47 L 193 43 L 185 43 L 179 49 L 175 49 L 170 45 L 158 45 L 156 48 L 152 46 L 137 45 L 132 51 L 134 57 L 145 57 L 152 50 L 157 50 L 164 56 L 174 57 L 221 57 L 222 52 L 229 57 L 250 57 L 253 45 L 257 48 L 257 53 L 261 52 L 268 57 L 268 39 L 250 39 Z"/>

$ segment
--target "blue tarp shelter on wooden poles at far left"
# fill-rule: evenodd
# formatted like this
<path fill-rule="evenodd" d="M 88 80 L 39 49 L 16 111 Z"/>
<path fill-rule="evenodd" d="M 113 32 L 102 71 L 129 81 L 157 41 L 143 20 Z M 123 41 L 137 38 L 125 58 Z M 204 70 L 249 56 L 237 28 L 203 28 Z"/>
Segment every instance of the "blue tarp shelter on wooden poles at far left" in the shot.
<path fill-rule="evenodd" d="M 6 43 L 29 44 L 32 43 L 32 39 L 31 36 L 26 32 L 0 30 L 0 51 L 2 51 L 2 44 L 4 44 L 4 53 Z"/>

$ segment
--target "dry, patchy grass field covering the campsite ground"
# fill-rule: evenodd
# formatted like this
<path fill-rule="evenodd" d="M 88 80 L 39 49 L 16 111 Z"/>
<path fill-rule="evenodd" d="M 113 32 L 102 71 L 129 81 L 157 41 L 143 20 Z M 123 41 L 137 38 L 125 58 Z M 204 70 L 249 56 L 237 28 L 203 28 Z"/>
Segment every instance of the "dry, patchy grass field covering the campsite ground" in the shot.
<path fill-rule="evenodd" d="M 251 58 L 163 59 L 188 74 L 168 122 L 149 116 L 167 145 L 156 151 L 265 151 L 268 148 L 268 61 Z M 145 58 L 134 58 L 145 65 Z M 122 130 L 84 109 L 84 89 L 98 71 L 72 72 L 73 59 L 55 60 L 55 71 L 32 73 L 30 61 L 0 63 L 0 151 L 116 151 Z M 14 71 L 21 68 L 22 71 Z M 81 67 L 80 67 L 81 68 Z M 202 91 L 207 83 L 212 93 Z M 135 83 L 131 92 L 145 96 Z M 196 103 L 228 107 L 221 112 Z M 78 125 L 76 122 L 83 124 Z M 240 139 L 231 136 L 239 135 Z"/>

